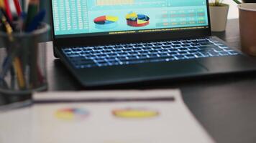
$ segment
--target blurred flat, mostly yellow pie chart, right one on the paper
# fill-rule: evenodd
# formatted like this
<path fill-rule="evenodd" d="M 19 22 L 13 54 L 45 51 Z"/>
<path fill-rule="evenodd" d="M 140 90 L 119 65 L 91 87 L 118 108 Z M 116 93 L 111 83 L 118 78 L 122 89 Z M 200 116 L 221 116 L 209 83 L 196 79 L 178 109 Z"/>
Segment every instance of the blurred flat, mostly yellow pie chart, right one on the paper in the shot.
<path fill-rule="evenodd" d="M 119 118 L 145 119 L 159 116 L 159 112 L 150 109 L 114 109 L 112 114 Z"/>

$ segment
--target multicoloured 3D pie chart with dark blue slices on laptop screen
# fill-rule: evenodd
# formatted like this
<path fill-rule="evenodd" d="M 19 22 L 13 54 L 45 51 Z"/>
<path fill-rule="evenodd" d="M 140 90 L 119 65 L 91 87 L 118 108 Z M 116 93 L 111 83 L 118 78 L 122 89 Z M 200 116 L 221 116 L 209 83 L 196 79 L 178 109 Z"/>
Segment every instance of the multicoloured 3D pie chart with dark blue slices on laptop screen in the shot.
<path fill-rule="evenodd" d="M 150 24 L 150 17 L 145 14 L 136 14 L 135 12 L 130 12 L 125 17 L 127 19 L 127 25 L 134 27 L 147 26 Z"/>

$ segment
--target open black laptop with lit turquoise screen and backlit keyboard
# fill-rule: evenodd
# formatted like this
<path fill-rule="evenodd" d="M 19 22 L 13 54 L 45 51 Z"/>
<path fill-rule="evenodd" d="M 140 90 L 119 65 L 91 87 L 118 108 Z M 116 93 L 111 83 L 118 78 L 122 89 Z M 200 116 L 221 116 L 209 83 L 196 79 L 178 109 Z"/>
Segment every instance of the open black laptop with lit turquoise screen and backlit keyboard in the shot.
<path fill-rule="evenodd" d="M 211 36 L 208 0 L 52 0 L 55 56 L 83 87 L 255 71 Z"/>

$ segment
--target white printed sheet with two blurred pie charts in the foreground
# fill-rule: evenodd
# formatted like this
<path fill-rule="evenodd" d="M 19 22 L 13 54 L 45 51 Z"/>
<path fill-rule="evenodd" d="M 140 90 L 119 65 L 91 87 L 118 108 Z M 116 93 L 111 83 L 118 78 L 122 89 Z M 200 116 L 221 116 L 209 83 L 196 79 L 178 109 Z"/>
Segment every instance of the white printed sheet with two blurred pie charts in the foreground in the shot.
<path fill-rule="evenodd" d="M 37 105 L 33 108 L 32 142 L 214 142 L 189 112 L 178 90 L 63 92 L 35 94 L 34 97 Z M 170 100 L 172 97 L 174 101 Z M 85 102 L 86 99 L 114 98 L 119 100 Z M 154 98 L 160 100 L 147 100 Z M 137 99 L 137 102 L 129 102 L 129 99 Z M 71 102 L 79 100 L 83 102 Z"/>

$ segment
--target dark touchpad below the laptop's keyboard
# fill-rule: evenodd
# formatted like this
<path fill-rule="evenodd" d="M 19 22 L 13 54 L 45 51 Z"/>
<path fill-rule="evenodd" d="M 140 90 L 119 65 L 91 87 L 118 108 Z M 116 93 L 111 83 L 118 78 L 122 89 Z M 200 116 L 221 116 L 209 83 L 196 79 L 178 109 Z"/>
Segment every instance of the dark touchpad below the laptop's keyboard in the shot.
<path fill-rule="evenodd" d="M 196 61 L 170 61 L 147 63 L 140 66 L 142 77 L 154 78 L 172 78 L 187 77 L 201 74 L 208 71 L 204 66 Z"/>

